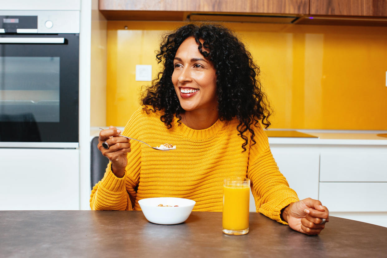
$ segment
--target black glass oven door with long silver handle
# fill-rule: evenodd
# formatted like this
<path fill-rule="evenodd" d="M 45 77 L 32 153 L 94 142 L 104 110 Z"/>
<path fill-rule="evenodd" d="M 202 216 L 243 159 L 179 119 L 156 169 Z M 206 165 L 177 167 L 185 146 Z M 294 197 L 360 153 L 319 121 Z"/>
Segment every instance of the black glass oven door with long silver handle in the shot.
<path fill-rule="evenodd" d="M 78 99 L 79 34 L 0 36 L 0 147 L 78 143 Z"/>

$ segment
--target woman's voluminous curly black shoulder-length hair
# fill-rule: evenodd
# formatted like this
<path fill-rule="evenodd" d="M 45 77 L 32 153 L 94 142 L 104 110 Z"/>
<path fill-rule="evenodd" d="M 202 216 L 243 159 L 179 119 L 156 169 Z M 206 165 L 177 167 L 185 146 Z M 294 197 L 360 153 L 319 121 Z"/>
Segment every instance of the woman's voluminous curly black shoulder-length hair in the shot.
<path fill-rule="evenodd" d="M 269 127 L 271 123 L 268 118 L 272 109 L 257 79 L 259 67 L 244 44 L 226 27 L 219 24 L 187 24 L 164 36 L 160 50 L 156 52 L 158 63 L 162 62 L 164 68 L 143 92 L 142 104 L 152 106 L 153 111 L 163 110 L 160 119 L 167 128 L 171 128 L 174 116 L 181 123 L 180 114 L 184 113 L 184 109 L 180 106 L 171 78 L 176 51 L 189 37 L 195 38 L 200 53 L 214 65 L 219 119 L 238 119 L 238 135 L 245 140 L 242 144 L 245 151 L 248 137 L 244 133 L 249 131 L 255 144 L 252 124 L 256 126 L 261 121 L 265 128 Z M 199 39 L 204 41 L 203 44 Z"/>

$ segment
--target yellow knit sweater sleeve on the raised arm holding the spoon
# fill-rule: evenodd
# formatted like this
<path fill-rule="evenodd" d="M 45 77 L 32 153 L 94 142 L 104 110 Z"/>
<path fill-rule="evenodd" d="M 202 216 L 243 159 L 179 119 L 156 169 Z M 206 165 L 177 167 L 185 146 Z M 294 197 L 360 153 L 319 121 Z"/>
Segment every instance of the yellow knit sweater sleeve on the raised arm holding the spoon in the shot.
<path fill-rule="evenodd" d="M 138 138 L 141 128 L 141 108 L 130 118 L 122 135 Z M 141 148 L 137 141 L 130 141 L 131 152 L 122 178 L 117 178 L 111 171 L 109 162 L 103 179 L 92 189 L 90 207 L 92 210 L 133 210 L 140 178 Z"/>

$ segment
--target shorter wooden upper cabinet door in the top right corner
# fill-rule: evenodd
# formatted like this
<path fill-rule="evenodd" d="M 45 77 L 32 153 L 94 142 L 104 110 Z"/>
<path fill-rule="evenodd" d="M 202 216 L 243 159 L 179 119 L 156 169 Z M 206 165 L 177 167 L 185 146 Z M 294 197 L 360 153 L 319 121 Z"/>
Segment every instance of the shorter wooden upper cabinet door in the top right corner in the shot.
<path fill-rule="evenodd" d="M 310 15 L 387 17 L 387 0 L 310 0 Z"/>

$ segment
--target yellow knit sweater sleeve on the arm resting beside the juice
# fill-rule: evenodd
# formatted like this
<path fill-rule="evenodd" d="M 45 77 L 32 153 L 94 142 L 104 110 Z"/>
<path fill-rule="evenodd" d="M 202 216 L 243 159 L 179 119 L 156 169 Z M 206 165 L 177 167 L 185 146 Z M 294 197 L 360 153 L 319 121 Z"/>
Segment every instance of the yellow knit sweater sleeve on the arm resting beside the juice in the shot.
<path fill-rule="evenodd" d="M 281 219 L 281 210 L 299 200 L 297 193 L 289 188 L 288 181 L 279 171 L 262 128 L 257 128 L 255 141 L 257 143 L 250 147 L 247 171 L 255 207 L 257 212 L 282 224 L 288 224 Z"/>

